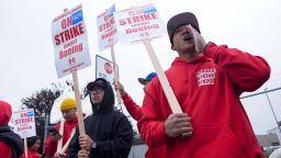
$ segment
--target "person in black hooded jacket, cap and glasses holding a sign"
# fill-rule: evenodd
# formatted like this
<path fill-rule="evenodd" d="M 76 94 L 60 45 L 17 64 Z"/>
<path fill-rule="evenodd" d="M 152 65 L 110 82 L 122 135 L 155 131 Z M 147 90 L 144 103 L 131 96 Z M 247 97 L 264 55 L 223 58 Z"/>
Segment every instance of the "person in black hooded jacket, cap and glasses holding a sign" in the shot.
<path fill-rule="evenodd" d="M 69 147 L 69 158 L 126 158 L 133 129 L 127 117 L 115 111 L 113 89 L 105 79 L 88 83 L 93 114 L 85 120 L 86 135 L 76 131 Z M 79 136 L 79 137 L 78 137 Z"/>

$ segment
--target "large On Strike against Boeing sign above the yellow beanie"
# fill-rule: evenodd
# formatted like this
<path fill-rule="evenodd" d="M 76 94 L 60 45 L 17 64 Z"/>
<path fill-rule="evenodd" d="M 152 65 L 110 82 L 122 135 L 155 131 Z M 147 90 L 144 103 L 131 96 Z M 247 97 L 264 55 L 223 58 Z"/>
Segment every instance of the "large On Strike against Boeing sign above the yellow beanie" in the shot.
<path fill-rule="evenodd" d="M 52 38 L 58 78 L 91 65 L 82 5 L 53 20 Z"/>

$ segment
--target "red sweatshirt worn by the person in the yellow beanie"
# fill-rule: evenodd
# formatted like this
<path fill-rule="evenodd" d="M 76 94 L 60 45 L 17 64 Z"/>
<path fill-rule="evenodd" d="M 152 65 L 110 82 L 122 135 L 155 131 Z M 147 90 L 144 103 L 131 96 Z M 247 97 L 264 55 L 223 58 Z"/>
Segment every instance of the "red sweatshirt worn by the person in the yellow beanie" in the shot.
<path fill-rule="evenodd" d="M 71 132 L 76 129 L 78 124 L 77 117 L 75 117 L 71 122 L 64 123 L 64 134 L 63 134 L 63 147 L 66 142 L 70 138 Z M 60 123 L 56 125 L 56 129 L 59 132 Z M 48 136 L 47 140 L 45 142 L 45 154 L 48 157 L 53 157 L 57 151 L 57 142 L 52 142 L 50 136 Z M 67 154 L 67 150 L 66 153 Z"/>

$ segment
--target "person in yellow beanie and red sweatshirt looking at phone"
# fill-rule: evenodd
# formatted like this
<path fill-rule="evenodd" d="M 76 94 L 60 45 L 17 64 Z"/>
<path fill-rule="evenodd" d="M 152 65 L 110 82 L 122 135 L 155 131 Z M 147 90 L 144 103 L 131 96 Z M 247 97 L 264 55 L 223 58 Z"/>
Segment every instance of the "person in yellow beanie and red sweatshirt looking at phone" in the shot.
<path fill-rule="evenodd" d="M 58 123 L 56 125 L 57 132 L 50 133 L 45 142 L 45 154 L 47 157 L 66 157 L 67 151 L 65 151 L 65 154 L 56 154 L 58 140 L 63 138 L 61 147 L 64 148 L 67 142 L 70 142 L 71 136 L 75 133 L 76 126 L 78 124 L 78 119 L 76 114 L 76 101 L 74 99 L 65 99 L 60 104 L 60 111 L 63 113 L 63 117 L 65 119 L 64 133 L 63 135 L 58 133 L 60 127 L 60 123 Z"/>

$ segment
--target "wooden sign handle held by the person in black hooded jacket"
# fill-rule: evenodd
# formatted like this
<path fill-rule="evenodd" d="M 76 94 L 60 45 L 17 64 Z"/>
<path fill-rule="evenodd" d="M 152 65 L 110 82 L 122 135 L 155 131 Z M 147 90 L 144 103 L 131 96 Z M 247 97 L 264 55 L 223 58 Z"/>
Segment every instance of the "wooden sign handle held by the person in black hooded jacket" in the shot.
<path fill-rule="evenodd" d="M 78 113 L 79 133 L 80 133 L 80 135 L 85 135 L 83 114 L 82 114 L 82 106 L 81 106 L 81 100 L 80 100 L 77 71 L 72 72 L 72 79 L 74 79 L 74 87 L 75 87 L 76 108 L 77 108 L 77 113 Z"/>

